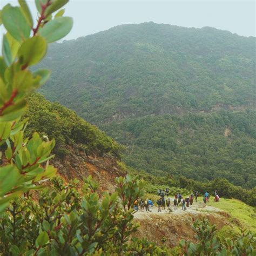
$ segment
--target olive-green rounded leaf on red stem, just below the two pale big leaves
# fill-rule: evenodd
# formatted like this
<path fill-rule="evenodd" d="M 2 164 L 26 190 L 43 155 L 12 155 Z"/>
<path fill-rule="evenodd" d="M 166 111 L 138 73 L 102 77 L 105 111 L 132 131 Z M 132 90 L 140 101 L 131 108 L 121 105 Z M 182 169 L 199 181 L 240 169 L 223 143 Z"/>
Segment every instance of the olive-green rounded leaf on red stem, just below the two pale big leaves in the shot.
<path fill-rule="evenodd" d="M 31 37 L 21 45 L 18 51 L 18 59 L 22 65 L 34 65 L 45 55 L 47 44 L 41 36 Z"/>

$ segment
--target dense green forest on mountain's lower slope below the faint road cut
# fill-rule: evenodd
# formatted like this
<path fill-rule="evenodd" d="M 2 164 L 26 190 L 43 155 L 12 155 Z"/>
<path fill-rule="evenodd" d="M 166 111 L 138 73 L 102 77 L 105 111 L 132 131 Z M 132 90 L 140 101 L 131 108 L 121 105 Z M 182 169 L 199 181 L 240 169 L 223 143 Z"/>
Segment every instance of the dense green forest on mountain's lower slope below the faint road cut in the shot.
<path fill-rule="evenodd" d="M 253 188 L 255 116 L 254 110 L 222 110 L 129 118 L 100 127 L 128 146 L 124 161 L 134 169 L 205 181 L 226 178 Z"/>

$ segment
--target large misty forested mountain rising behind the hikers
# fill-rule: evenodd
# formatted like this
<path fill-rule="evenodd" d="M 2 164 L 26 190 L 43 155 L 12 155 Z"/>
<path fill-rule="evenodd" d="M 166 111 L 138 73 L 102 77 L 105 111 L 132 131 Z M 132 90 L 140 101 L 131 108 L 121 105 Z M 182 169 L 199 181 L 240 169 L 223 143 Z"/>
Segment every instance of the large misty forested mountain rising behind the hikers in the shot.
<path fill-rule="evenodd" d="M 127 146 L 136 169 L 256 185 L 255 38 L 143 23 L 53 44 L 41 92 Z"/>

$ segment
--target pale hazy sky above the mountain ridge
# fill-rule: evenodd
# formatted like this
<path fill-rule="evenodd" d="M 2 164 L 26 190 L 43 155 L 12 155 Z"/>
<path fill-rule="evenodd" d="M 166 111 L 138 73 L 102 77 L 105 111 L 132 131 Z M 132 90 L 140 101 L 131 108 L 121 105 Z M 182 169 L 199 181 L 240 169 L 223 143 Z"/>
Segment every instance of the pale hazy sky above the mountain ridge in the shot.
<path fill-rule="evenodd" d="M 7 2 L 15 5 L 17 0 L 0 0 L 0 8 Z M 35 8 L 34 1 L 28 2 Z M 70 0 L 66 5 L 66 16 L 73 17 L 74 26 L 65 39 L 75 39 L 120 24 L 149 21 L 196 28 L 213 26 L 242 36 L 255 36 L 255 2 L 246 0 Z"/>

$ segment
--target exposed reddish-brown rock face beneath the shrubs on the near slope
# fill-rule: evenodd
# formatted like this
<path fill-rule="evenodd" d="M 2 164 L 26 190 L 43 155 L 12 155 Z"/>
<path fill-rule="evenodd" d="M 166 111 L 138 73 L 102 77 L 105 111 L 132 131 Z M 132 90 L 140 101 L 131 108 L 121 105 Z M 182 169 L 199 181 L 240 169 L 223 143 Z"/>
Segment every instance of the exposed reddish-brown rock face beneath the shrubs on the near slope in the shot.
<path fill-rule="evenodd" d="M 116 177 L 126 174 L 120 170 L 114 157 L 87 156 L 84 151 L 73 147 L 69 148 L 69 152 L 63 159 L 55 158 L 51 161 L 66 181 L 77 178 L 82 183 L 84 177 L 91 175 L 99 182 L 102 191 L 109 190 L 112 193 Z"/>

